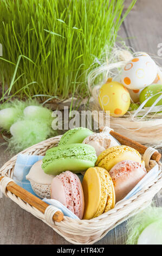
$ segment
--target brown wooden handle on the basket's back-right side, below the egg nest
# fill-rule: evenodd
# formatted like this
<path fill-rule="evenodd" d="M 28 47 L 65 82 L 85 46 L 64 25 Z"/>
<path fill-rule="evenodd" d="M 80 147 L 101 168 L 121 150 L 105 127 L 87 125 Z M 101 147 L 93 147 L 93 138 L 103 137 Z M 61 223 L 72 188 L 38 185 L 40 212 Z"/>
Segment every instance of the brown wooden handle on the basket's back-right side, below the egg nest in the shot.
<path fill-rule="evenodd" d="M 100 127 L 100 131 L 103 130 L 104 127 Z M 136 149 L 137 151 L 139 151 L 140 154 L 144 155 L 147 147 L 138 143 L 138 142 L 135 142 L 133 141 L 132 139 L 129 139 L 125 136 L 122 136 L 120 135 L 118 132 L 114 132 L 113 130 L 111 130 L 109 132 L 115 139 L 117 139 L 122 145 L 126 145 L 126 146 L 129 146 L 129 147 L 132 147 L 134 149 Z M 154 152 L 151 156 L 151 159 L 152 160 L 155 160 L 157 162 L 160 161 L 161 159 L 161 154 L 157 151 L 157 152 Z"/>

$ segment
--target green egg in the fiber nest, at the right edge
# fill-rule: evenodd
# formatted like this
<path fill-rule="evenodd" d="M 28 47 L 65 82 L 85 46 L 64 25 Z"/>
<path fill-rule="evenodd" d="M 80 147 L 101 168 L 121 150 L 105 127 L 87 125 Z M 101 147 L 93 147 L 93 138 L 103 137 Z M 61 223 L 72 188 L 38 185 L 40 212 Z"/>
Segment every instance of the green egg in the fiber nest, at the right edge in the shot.
<path fill-rule="evenodd" d="M 139 96 L 140 103 L 144 102 L 146 99 L 152 96 L 151 99 L 148 100 L 145 104 L 145 107 L 151 107 L 155 102 L 155 100 L 157 100 L 158 97 L 161 95 L 161 93 L 162 93 L 162 84 L 151 84 L 151 86 L 147 86 L 144 90 L 142 90 Z M 159 100 L 156 106 L 160 106 L 160 105 L 162 105 L 162 99 Z"/>

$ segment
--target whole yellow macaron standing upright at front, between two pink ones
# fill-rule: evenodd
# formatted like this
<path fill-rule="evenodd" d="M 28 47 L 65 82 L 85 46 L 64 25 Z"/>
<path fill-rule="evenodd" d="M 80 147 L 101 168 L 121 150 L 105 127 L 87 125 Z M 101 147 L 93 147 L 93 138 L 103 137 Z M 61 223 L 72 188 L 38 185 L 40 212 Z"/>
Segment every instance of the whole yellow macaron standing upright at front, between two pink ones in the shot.
<path fill-rule="evenodd" d="M 83 178 L 82 187 L 85 197 L 83 219 L 90 220 L 114 208 L 114 185 L 106 169 L 89 168 Z"/>

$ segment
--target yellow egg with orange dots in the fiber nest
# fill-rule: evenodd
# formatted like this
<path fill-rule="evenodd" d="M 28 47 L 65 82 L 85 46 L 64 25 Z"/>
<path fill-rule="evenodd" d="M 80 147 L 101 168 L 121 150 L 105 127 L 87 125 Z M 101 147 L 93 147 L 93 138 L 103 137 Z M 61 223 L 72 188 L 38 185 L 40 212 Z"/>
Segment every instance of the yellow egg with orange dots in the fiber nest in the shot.
<path fill-rule="evenodd" d="M 99 103 L 104 111 L 109 111 L 113 117 L 121 117 L 130 106 L 131 98 L 128 90 L 115 81 L 103 84 L 99 92 Z"/>

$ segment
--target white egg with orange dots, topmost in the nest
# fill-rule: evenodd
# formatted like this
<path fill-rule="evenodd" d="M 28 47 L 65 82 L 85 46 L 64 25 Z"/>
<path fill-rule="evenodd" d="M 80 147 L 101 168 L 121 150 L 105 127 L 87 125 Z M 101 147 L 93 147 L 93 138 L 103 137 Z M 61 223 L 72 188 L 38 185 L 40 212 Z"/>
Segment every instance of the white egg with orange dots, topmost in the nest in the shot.
<path fill-rule="evenodd" d="M 131 90 L 142 89 L 153 83 L 157 72 L 154 60 L 146 53 L 138 53 L 122 69 L 121 83 Z"/>

